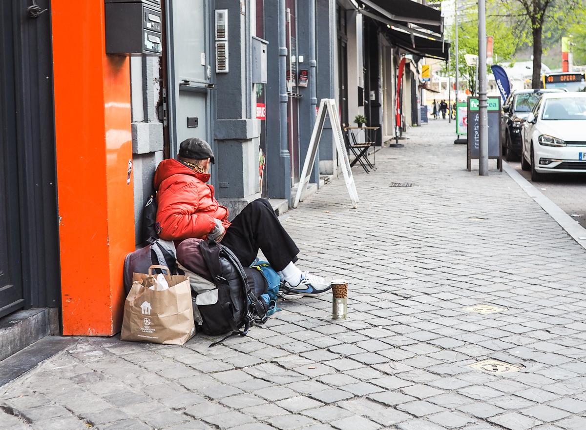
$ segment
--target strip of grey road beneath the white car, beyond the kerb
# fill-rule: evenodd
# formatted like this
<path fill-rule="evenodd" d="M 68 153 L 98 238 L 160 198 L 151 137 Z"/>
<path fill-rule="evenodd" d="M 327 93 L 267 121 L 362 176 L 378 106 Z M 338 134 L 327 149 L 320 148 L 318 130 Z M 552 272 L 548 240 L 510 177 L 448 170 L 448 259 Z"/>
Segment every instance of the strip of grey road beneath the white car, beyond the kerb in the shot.
<path fill-rule="evenodd" d="M 550 198 L 563 211 L 586 228 L 586 176 L 578 174 L 553 174 L 539 182 L 532 182 L 531 172 L 523 171 L 521 163 L 509 163 L 527 181 Z"/>

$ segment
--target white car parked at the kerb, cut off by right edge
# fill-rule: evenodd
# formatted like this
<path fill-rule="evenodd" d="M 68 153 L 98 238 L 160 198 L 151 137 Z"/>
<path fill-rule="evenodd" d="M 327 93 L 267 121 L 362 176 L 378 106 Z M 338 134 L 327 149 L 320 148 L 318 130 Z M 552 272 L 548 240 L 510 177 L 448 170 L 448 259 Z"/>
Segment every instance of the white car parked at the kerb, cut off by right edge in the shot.
<path fill-rule="evenodd" d="M 586 173 L 586 92 L 543 94 L 523 123 L 521 167 L 544 173 Z"/>

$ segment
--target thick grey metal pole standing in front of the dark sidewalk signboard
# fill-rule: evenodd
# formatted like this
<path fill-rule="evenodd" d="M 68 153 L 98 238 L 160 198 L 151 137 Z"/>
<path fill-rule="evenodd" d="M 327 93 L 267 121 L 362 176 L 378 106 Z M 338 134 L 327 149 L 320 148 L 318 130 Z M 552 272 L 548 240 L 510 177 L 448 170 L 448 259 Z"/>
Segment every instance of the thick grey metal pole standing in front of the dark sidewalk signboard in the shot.
<path fill-rule="evenodd" d="M 480 115 L 479 168 L 480 176 L 488 175 L 488 99 L 486 98 L 486 4 L 478 0 L 478 105 Z"/>

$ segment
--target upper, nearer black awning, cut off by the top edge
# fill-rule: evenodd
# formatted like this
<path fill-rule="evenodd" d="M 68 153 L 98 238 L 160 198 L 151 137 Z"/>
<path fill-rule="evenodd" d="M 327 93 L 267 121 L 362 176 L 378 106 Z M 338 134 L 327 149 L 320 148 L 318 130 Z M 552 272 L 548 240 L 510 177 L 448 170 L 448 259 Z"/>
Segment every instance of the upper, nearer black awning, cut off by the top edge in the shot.
<path fill-rule="evenodd" d="M 370 11 L 386 18 L 413 23 L 438 35 L 443 33 L 441 12 L 412 0 L 360 0 Z"/>

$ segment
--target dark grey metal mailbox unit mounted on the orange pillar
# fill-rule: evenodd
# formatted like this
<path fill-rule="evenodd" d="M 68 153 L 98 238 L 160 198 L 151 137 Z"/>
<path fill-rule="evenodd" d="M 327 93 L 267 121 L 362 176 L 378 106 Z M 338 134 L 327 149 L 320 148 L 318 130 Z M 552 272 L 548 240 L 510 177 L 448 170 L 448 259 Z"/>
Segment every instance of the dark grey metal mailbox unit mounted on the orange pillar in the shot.
<path fill-rule="evenodd" d="M 159 0 L 105 0 L 106 53 L 161 56 Z"/>

